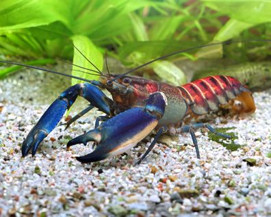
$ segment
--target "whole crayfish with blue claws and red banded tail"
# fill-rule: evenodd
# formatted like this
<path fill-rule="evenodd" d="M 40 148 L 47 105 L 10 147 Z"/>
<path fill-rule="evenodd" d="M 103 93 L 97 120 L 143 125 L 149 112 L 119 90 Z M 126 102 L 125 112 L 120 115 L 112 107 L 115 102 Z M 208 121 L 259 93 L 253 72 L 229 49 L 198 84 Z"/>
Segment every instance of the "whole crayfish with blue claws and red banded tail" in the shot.
<path fill-rule="evenodd" d="M 181 52 L 177 51 L 170 55 Z M 151 62 L 162 58 L 157 58 Z M 1 62 L 27 66 L 8 61 Z M 166 132 L 190 133 L 196 148 L 196 155 L 199 158 L 200 153 L 194 133 L 195 129 L 206 127 L 218 136 L 224 138 L 229 138 L 229 136 L 218 133 L 208 124 L 194 123 L 187 125 L 192 118 L 197 118 L 209 112 L 216 112 L 224 105 L 227 105 L 232 112 L 237 114 L 255 111 L 255 103 L 250 90 L 242 86 L 237 79 L 228 76 L 210 76 L 178 87 L 127 75 L 135 71 L 135 69 L 120 75 L 103 75 L 97 69 L 101 79 L 100 81 L 94 81 L 36 66 L 27 67 L 73 77 L 86 81 L 86 83 L 67 88 L 49 106 L 38 123 L 28 133 L 27 138 L 25 138 L 22 145 L 23 156 L 27 155 L 30 150 L 32 155 L 35 155 L 40 142 L 57 126 L 66 110 L 73 105 L 78 96 L 86 99 L 90 102 L 90 105 L 70 119 L 66 123 L 67 127 L 77 118 L 92 110 L 93 107 L 105 113 L 105 116 L 97 118 L 94 129 L 70 140 L 67 144 L 67 146 L 73 146 L 79 143 L 86 145 L 90 141 L 96 142 L 97 147 L 92 153 L 77 157 L 79 162 L 83 163 L 96 162 L 124 153 L 154 129 L 157 134 L 146 153 L 138 160 L 138 164 L 153 149 L 159 136 Z M 108 90 L 112 94 L 112 99 L 107 97 L 101 91 L 101 88 Z M 103 121 L 103 123 L 100 124 L 100 121 Z"/>

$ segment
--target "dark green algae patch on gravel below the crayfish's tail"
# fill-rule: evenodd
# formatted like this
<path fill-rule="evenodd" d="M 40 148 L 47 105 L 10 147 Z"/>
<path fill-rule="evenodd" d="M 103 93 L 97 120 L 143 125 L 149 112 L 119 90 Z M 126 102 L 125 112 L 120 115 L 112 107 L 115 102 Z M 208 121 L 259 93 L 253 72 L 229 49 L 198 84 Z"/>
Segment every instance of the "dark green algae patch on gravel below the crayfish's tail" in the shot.
<path fill-rule="evenodd" d="M 216 128 L 216 131 L 218 131 L 219 133 L 227 134 L 231 136 L 231 138 L 226 139 L 223 138 L 222 136 L 218 136 L 214 133 L 211 133 L 210 131 L 208 131 L 208 138 L 210 140 L 218 142 L 219 144 L 222 144 L 222 146 L 226 147 L 229 151 L 236 151 L 242 145 L 234 143 L 234 140 L 237 139 L 237 136 L 233 132 L 227 133 L 227 131 L 229 131 L 230 129 L 235 129 L 235 127 Z"/>

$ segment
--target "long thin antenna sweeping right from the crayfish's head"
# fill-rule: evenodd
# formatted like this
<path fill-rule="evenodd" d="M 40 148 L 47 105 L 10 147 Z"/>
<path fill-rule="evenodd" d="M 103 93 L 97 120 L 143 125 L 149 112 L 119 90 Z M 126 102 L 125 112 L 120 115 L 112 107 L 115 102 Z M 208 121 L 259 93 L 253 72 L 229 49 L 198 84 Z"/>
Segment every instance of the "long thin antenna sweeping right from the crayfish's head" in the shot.
<path fill-rule="evenodd" d="M 144 66 L 147 66 L 157 60 L 164 60 L 172 55 L 176 55 L 178 53 L 184 53 L 184 52 L 188 52 L 188 51 L 193 51 L 193 50 L 196 50 L 196 49 L 200 49 L 200 48 L 203 48 L 203 47 L 211 47 L 211 46 L 214 46 L 214 45 L 218 45 L 218 44 L 237 44 L 237 43 L 240 43 L 240 42 L 270 42 L 271 40 L 270 39 L 248 39 L 248 40 L 237 40 L 237 41 L 232 41 L 231 40 L 226 40 L 224 42 L 216 42 L 216 43 L 212 43 L 212 44 L 204 44 L 204 45 L 198 45 L 196 47 L 191 47 L 191 48 L 188 48 L 188 49 L 183 49 L 183 50 L 180 50 L 180 51 L 175 51 L 173 53 L 169 53 L 167 55 L 163 55 L 162 57 L 159 57 L 159 58 L 156 58 L 154 60 L 151 60 L 149 62 L 146 62 L 144 64 L 142 64 L 141 66 L 137 66 L 133 69 L 131 69 L 130 71 L 128 71 L 127 73 L 123 73 L 121 75 L 118 75 L 117 77 L 115 77 L 114 79 L 112 79 L 111 81 L 115 81 L 116 79 L 119 79 L 120 77 L 123 77 L 125 75 L 128 75 L 130 73 L 133 73 L 134 71 L 137 71 L 139 68 L 142 68 Z"/>

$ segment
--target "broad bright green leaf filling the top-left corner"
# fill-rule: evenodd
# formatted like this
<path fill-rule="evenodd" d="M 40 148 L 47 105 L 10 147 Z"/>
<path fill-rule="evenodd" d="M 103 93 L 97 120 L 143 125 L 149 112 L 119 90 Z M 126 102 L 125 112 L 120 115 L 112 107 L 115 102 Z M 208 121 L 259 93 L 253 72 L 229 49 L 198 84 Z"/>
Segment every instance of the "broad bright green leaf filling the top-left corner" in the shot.
<path fill-rule="evenodd" d="M 0 31 L 48 25 L 55 21 L 69 26 L 69 14 L 66 1 L 1 0 Z"/>

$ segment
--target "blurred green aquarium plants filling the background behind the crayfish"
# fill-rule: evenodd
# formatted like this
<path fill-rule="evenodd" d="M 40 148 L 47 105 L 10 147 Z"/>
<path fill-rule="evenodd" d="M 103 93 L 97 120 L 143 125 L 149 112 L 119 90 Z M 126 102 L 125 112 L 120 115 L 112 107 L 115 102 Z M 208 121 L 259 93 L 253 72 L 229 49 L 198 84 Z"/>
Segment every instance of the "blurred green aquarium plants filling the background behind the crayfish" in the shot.
<path fill-rule="evenodd" d="M 107 53 L 109 70 L 124 73 L 126 67 L 181 49 L 239 41 L 173 55 L 135 75 L 175 85 L 212 74 L 235 75 L 250 88 L 255 82 L 259 88 L 270 77 L 271 43 L 246 40 L 271 38 L 270 11 L 271 2 L 263 0 L 2 0 L 0 60 L 41 66 L 60 59 L 64 64 L 64 59 L 94 69 L 74 51 L 75 44 L 99 69 L 105 71 Z M 0 67 L 1 78 L 20 68 Z M 73 75 L 97 79 L 78 70 L 73 66 Z"/>

